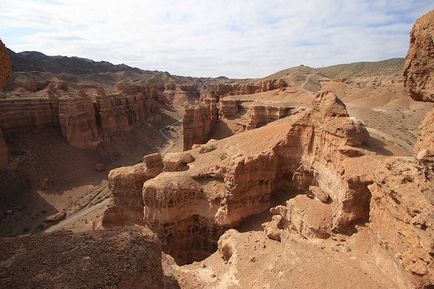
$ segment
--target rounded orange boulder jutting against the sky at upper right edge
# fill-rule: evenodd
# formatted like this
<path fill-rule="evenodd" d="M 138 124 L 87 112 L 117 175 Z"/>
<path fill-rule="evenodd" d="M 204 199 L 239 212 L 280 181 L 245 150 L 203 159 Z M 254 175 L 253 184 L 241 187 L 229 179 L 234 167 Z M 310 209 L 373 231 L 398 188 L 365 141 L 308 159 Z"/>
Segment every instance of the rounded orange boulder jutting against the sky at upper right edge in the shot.
<path fill-rule="evenodd" d="M 419 18 L 410 33 L 404 85 L 414 100 L 434 101 L 434 10 Z"/>

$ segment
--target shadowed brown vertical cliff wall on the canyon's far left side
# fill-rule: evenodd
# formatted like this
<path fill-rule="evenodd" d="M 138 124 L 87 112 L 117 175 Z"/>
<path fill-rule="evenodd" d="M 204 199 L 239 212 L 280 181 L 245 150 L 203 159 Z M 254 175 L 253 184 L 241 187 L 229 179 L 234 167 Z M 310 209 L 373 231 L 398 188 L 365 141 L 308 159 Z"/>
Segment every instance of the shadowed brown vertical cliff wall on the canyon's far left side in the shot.
<path fill-rule="evenodd" d="M 130 131 L 155 120 L 158 109 L 149 95 L 124 92 L 97 95 L 66 93 L 53 88 L 56 97 L 0 100 L 0 129 L 59 127 L 72 146 L 93 149 L 105 135 Z"/>

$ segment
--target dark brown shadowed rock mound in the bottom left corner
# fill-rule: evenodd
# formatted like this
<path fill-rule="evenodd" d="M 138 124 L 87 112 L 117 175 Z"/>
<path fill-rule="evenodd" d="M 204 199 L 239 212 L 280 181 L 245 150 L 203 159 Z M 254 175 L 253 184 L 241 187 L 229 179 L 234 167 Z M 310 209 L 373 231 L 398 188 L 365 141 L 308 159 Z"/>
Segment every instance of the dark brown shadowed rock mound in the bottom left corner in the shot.
<path fill-rule="evenodd" d="M 2 288 L 176 288 L 164 279 L 157 238 L 143 227 L 3 238 L 0 249 Z"/>

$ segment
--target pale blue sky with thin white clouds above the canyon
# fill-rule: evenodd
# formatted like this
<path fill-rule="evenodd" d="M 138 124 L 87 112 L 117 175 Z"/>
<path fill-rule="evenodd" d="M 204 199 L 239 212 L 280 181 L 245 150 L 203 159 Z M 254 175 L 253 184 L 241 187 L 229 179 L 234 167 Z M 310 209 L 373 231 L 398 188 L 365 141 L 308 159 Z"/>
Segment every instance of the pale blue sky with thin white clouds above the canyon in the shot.
<path fill-rule="evenodd" d="M 404 57 L 432 0 L 0 0 L 14 51 L 178 75 L 260 77 Z"/>

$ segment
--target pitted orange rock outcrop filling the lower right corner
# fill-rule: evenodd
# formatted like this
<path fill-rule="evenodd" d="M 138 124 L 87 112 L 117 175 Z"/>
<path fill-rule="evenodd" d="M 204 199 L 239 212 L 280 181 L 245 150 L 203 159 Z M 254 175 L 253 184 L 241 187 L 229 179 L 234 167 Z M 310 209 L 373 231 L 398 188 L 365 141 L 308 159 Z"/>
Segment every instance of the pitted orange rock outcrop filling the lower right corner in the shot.
<path fill-rule="evenodd" d="M 382 259 L 402 265 L 391 276 L 408 288 L 434 285 L 434 175 L 413 158 L 391 158 L 374 173 L 370 229 Z M 384 264 L 382 264 L 384 265 Z M 390 269 L 389 269 L 390 270 Z M 401 273 L 401 274 L 399 274 Z"/>

